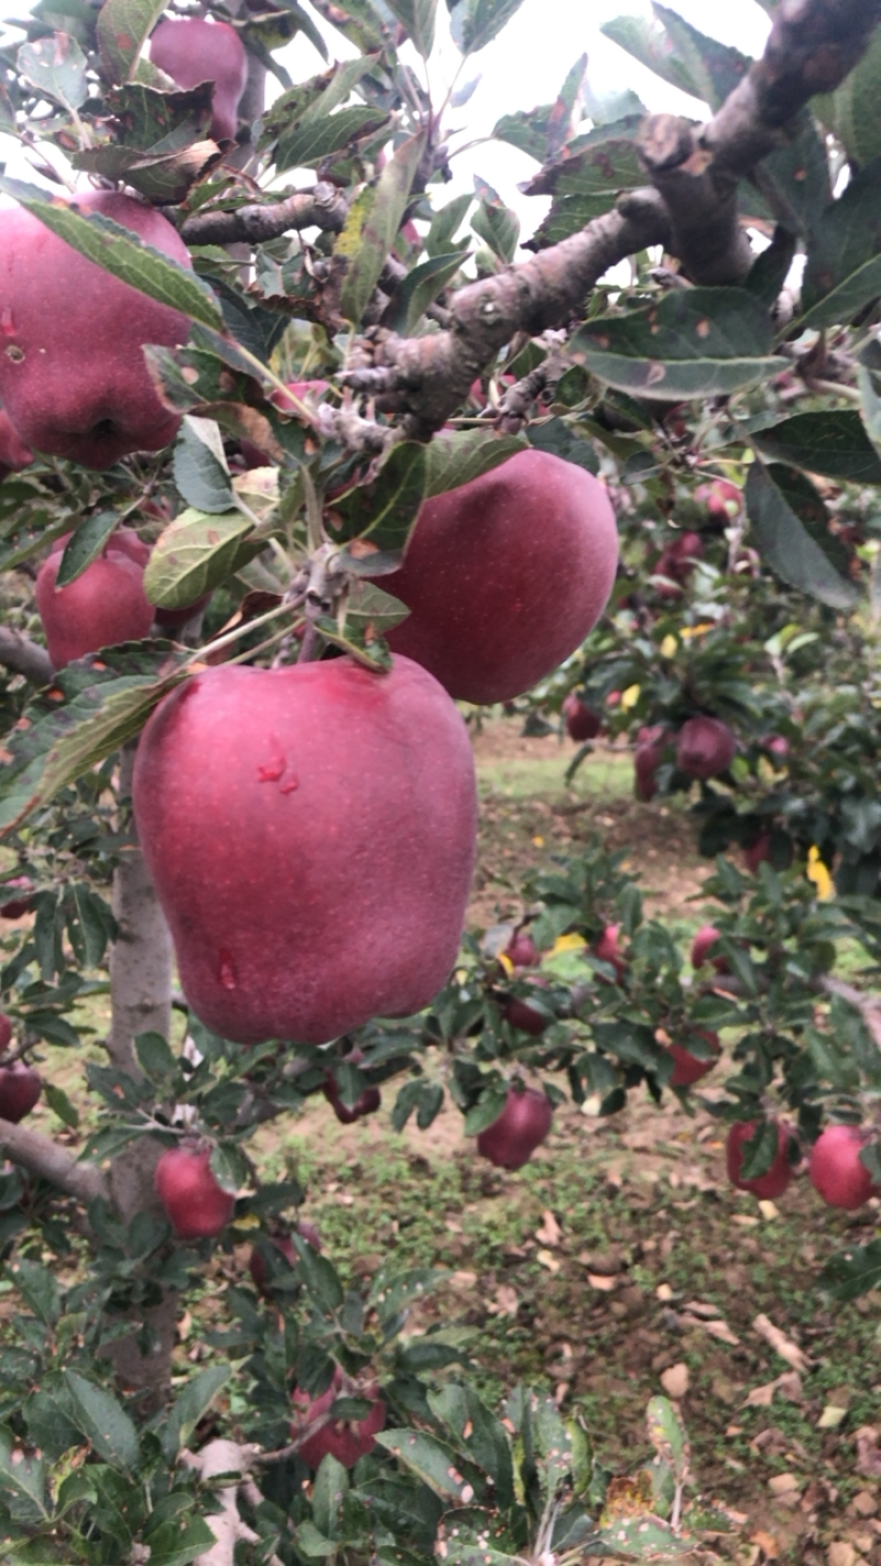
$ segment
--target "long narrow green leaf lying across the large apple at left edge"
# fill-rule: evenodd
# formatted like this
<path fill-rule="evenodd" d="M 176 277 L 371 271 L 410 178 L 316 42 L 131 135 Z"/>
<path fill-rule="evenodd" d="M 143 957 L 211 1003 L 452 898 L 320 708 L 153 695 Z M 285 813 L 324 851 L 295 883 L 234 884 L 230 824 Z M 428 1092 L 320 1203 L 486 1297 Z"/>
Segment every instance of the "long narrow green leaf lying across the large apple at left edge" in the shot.
<path fill-rule="evenodd" d="M 144 244 L 131 229 L 99 213 L 85 218 L 74 204 L 53 200 L 31 185 L 3 175 L 0 189 L 39 218 L 59 240 L 72 244 L 80 255 L 86 255 L 95 266 L 119 277 L 138 293 L 180 310 L 192 321 L 202 321 L 218 332 L 224 330 L 221 307 L 208 285 L 152 244 Z"/>

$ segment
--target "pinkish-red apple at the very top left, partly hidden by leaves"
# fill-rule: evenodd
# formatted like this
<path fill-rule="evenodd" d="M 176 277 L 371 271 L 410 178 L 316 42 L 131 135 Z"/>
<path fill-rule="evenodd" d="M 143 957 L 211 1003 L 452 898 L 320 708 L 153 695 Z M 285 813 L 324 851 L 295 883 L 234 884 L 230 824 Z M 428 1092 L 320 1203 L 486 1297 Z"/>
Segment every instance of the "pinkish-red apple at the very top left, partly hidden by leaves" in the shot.
<path fill-rule="evenodd" d="M 235 27 L 200 16 L 166 17 L 150 36 L 150 60 L 178 88 L 213 81 L 210 135 L 214 141 L 235 141 L 247 81 L 247 55 Z"/>

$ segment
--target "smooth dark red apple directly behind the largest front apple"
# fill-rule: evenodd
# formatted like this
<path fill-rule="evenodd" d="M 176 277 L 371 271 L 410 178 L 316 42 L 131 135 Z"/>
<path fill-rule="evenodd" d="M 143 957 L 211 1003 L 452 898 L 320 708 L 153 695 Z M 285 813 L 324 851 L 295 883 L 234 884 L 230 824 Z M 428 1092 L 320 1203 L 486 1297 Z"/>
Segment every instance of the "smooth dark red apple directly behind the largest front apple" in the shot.
<path fill-rule="evenodd" d="M 457 700 L 509 702 L 584 642 L 617 564 L 602 484 L 562 457 L 518 451 L 423 506 L 404 565 L 383 578 L 410 609 L 388 644 Z"/>

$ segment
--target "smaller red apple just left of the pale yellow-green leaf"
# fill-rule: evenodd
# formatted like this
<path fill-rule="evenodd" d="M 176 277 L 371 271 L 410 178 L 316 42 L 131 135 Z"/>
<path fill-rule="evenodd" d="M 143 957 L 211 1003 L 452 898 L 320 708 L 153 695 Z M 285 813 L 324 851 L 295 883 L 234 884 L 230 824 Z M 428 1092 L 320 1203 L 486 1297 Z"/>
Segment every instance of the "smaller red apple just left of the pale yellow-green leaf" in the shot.
<path fill-rule="evenodd" d="M 100 647 L 139 642 L 150 634 L 153 606 L 144 592 L 144 567 L 108 539 L 102 553 L 77 581 L 56 587 L 64 542 L 42 562 L 36 578 L 36 606 L 49 656 L 56 669 Z"/>

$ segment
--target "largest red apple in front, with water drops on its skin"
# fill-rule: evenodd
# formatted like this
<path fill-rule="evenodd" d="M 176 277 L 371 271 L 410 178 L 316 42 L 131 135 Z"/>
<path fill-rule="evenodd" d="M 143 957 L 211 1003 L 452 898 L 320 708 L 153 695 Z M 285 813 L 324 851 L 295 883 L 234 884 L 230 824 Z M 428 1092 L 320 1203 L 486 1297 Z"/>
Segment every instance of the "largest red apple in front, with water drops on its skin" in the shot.
<path fill-rule="evenodd" d="M 141 736 L 133 799 L 183 990 L 222 1037 L 325 1043 L 419 1012 L 448 979 L 474 760 L 408 659 L 192 677 Z"/>

